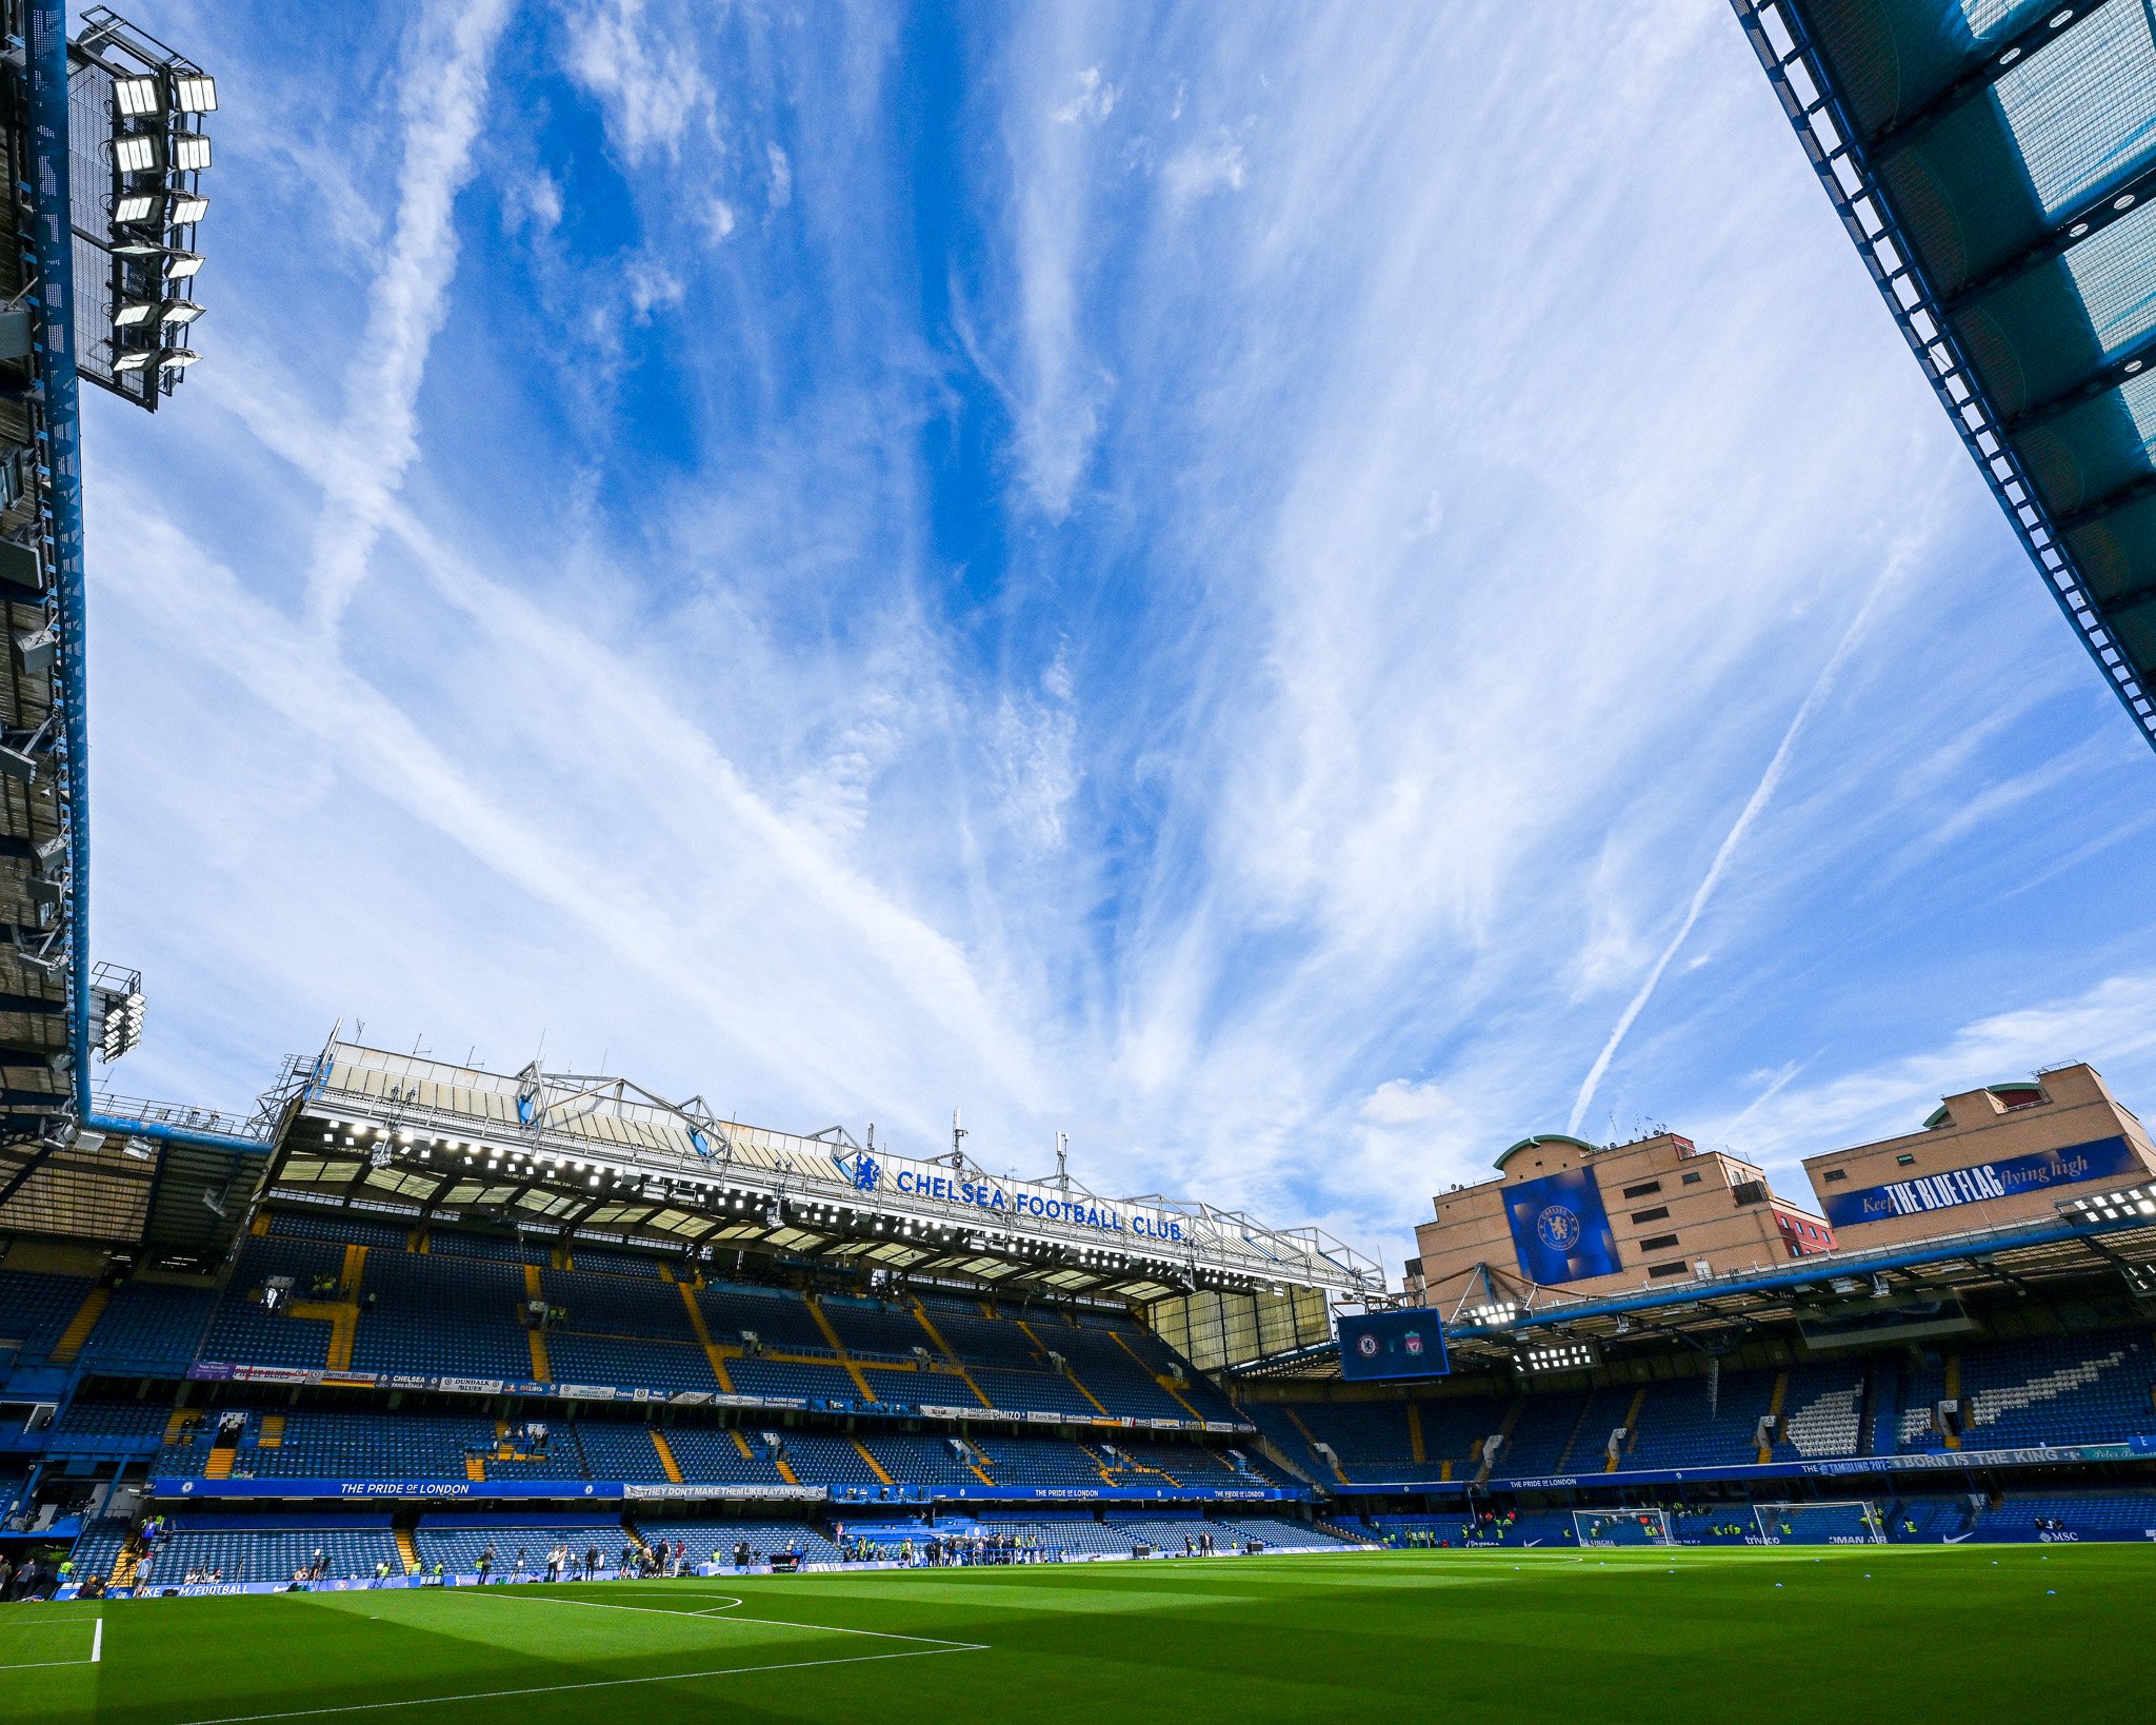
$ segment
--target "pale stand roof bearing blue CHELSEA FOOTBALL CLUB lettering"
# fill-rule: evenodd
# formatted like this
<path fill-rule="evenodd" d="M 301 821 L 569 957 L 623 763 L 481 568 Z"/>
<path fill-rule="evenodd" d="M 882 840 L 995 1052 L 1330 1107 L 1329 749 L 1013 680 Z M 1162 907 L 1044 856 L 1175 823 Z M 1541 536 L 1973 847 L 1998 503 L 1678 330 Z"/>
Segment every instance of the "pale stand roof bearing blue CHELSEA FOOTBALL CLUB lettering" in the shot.
<path fill-rule="evenodd" d="M 804 1136 L 722 1121 L 701 1100 L 668 1102 L 627 1078 L 537 1063 L 505 1076 L 334 1037 L 289 1087 L 250 1197 L 1044 1294 L 1384 1294 L 1380 1266 L 1341 1242 L 1240 1210 L 1104 1199 L 1061 1173 L 992 1175 L 957 1149 L 916 1160 L 843 1128 Z"/>

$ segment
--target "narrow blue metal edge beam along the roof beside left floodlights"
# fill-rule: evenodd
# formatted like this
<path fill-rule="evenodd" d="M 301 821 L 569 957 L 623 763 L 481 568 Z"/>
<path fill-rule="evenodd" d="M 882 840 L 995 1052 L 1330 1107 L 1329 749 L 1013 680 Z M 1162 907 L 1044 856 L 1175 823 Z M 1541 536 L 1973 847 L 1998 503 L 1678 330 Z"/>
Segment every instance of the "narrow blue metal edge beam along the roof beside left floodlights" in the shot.
<path fill-rule="evenodd" d="M 37 196 L 37 310 L 43 347 L 45 448 L 52 468 L 54 578 L 60 595 L 60 735 L 67 746 L 69 1011 L 75 1121 L 153 1143 L 265 1156 L 265 1138 L 99 1115 L 91 1102 L 91 737 L 82 591 L 82 386 L 75 373 L 75 265 L 67 164 L 67 4 L 30 0 L 30 183 Z"/>

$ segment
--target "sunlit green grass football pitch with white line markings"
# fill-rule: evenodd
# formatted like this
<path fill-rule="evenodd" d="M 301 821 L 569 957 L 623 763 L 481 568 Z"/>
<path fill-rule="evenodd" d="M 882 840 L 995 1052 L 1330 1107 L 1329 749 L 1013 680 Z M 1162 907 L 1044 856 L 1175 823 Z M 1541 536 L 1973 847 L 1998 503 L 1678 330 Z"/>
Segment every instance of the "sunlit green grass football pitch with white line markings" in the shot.
<path fill-rule="evenodd" d="M 1384 1552 L 114 1600 L 0 1606 L 0 1721 L 2143 1721 L 2152 1613 L 2143 1546 Z M 86 1660 L 99 1617 L 99 1662 L 45 1662 Z"/>

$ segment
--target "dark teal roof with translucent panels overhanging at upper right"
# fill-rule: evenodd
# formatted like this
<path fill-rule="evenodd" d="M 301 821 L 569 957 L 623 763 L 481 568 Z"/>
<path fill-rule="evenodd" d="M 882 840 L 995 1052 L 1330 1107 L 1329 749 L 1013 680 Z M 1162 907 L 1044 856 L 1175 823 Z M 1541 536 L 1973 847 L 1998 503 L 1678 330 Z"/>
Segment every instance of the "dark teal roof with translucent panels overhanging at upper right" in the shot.
<path fill-rule="evenodd" d="M 2046 589 L 2156 744 L 2156 15 L 1731 4 Z"/>

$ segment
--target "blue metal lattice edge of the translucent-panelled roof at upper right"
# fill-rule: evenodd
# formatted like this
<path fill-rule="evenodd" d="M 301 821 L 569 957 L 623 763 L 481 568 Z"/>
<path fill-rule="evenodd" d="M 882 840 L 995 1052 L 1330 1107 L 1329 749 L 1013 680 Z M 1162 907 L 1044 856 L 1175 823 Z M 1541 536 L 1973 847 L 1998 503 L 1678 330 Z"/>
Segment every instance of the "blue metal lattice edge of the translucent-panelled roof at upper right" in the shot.
<path fill-rule="evenodd" d="M 1744 26 L 1759 65 L 1766 69 L 1783 112 L 1811 157 L 1811 168 L 1841 216 L 1856 254 L 1893 313 L 1902 339 L 1932 382 L 1932 392 L 1953 420 L 1962 444 L 1992 487 L 2014 535 L 2044 574 L 2044 586 L 2081 636 L 2081 645 L 2111 681 L 2141 740 L 2156 748 L 2156 699 L 2141 688 L 2132 664 L 2119 649 L 2102 608 L 2057 535 L 2042 496 L 2029 483 L 2014 444 L 2005 436 L 2005 416 L 1984 392 L 1977 371 L 1968 364 L 1962 343 L 1945 310 L 1945 298 L 1917 263 L 1893 201 L 1871 170 L 1858 127 L 1850 119 L 1833 69 L 1811 43 L 1800 6 L 1794 0 L 1729 0 Z M 1774 19 L 1789 39 L 1789 50 L 1774 47 L 1768 34 Z"/>

